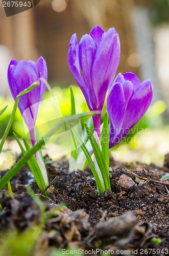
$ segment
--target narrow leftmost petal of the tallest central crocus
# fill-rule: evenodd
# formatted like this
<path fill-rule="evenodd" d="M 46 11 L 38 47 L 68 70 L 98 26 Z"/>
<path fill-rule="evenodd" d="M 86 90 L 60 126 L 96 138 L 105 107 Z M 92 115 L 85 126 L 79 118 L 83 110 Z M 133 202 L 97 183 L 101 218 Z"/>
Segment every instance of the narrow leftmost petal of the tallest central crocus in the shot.
<path fill-rule="evenodd" d="M 86 88 L 85 83 L 84 83 L 81 73 L 80 73 L 79 43 L 78 43 L 76 34 L 74 34 L 70 38 L 70 44 L 69 44 L 67 58 L 68 58 L 69 69 L 70 69 L 71 73 L 73 73 L 75 80 L 79 84 L 79 87 L 82 90 L 82 93 L 83 93 L 86 101 L 88 102 L 88 106 L 91 106 L 88 88 Z"/>

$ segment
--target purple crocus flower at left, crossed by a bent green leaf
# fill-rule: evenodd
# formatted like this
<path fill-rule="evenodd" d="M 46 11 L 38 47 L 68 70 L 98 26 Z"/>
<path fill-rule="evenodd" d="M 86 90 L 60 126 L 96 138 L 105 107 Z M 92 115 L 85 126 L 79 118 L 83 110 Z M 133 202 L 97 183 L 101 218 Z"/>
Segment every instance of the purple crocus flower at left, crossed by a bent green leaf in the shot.
<path fill-rule="evenodd" d="M 14 100 L 21 91 L 30 87 L 40 77 L 47 80 L 46 62 L 42 57 L 37 62 L 32 60 L 20 60 L 17 62 L 12 59 L 8 67 L 8 82 Z M 29 93 L 22 95 L 18 101 L 18 109 L 28 126 L 32 145 L 36 143 L 34 127 L 45 88 L 45 83 L 40 81 L 39 86 L 35 87 Z"/>

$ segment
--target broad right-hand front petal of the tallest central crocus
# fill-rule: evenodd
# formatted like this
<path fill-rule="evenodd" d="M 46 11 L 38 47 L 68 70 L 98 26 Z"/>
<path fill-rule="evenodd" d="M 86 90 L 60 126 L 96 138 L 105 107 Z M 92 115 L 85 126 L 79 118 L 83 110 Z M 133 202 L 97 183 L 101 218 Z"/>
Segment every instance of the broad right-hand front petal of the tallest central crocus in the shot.
<path fill-rule="evenodd" d="M 119 37 L 114 28 L 108 30 L 102 37 L 95 53 L 92 67 L 92 87 L 102 110 L 106 92 L 114 78 L 119 63 Z"/>

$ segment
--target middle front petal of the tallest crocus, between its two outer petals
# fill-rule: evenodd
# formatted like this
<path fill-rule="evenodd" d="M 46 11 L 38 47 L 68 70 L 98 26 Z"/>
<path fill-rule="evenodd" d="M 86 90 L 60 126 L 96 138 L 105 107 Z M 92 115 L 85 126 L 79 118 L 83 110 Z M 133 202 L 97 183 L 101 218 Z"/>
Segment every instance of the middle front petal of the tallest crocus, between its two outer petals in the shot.
<path fill-rule="evenodd" d="M 86 84 L 92 102 L 92 109 L 97 110 L 99 102 L 96 101 L 96 96 L 92 88 L 91 68 L 96 52 L 96 45 L 90 35 L 82 36 L 79 44 L 79 62 L 82 69 L 83 80 Z"/>

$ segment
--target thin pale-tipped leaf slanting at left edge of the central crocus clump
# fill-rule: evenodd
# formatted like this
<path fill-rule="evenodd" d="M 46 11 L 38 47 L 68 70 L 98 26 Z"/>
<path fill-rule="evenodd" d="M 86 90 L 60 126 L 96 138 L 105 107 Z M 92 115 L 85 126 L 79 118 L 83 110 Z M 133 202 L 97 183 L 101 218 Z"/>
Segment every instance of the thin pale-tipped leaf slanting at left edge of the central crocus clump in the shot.
<path fill-rule="evenodd" d="M 103 188 L 103 186 L 102 186 L 102 183 L 101 183 L 101 180 L 100 180 L 100 178 L 99 178 L 99 175 L 98 175 L 98 173 L 97 173 L 96 170 L 95 170 L 95 167 L 94 167 L 94 164 L 93 164 L 92 159 L 91 159 L 91 157 L 90 157 L 90 154 L 89 154 L 89 152 L 88 152 L 88 150 L 87 150 L 85 144 L 83 143 L 83 140 L 81 139 L 80 135 L 79 135 L 78 132 L 76 131 L 75 127 L 73 127 L 73 126 L 71 125 L 71 127 L 69 127 L 69 129 L 70 129 L 71 131 L 73 131 L 73 133 L 74 133 L 76 139 L 77 139 L 78 142 L 80 143 L 81 148 L 82 148 L 82 150 L 83 150 L 83 152 L 84 152 L 84 154 L 85 154 L 85 156 L 86 156 L 86 158 L 87 158 L 87 160 L 88 160 L 88 163 L 89 163 L 90 168 L 91 168 L 91 171 L 92 171 L 92 173 L 93 173 L 93 176 L 94 176 L 96 185 L 97 185 L 97 187 L 98 187 L 99 194 L 100 194 L 100 195 L 103 194 L 104 188 Z"/>

